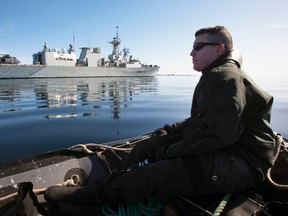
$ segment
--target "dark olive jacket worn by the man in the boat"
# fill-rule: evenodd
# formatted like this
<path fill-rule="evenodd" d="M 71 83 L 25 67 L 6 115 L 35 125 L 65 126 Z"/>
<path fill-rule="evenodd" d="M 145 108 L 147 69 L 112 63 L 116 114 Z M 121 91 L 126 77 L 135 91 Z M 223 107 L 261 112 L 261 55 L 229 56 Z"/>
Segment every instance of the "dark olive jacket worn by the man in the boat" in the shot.
<path fill-rule="evenodd" d="M 242 71 L 242 59 L 231 52 L 202 71 L 191 117 L 179 126 L 184 139 L 171 145 L 167 154 L 185 157 L 229 148 L 266 172 L 274 151 L 273 98 Z"/>

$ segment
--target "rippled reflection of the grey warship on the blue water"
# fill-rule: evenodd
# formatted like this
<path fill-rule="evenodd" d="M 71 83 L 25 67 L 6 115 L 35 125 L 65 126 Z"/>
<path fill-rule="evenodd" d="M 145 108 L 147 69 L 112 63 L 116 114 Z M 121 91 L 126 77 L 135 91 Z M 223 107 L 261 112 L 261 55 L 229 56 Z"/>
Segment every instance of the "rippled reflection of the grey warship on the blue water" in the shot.
<path fill-rule="evenodd" d="M 45 118 L 59 119 L 109 110 L 111 118 L 119 119 L 134 96 L 153 92 L 157 92 L 155 77 L 0 80 L 0 112 L 45 108 Z"/>

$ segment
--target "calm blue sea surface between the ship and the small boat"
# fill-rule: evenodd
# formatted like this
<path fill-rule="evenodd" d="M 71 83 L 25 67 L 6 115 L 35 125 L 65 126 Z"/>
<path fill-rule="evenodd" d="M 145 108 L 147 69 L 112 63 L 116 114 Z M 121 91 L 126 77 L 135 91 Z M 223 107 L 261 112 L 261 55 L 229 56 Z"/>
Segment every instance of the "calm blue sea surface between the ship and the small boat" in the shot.
<path fill-rule="evenodd" d="M 150 132 L 189 116 L 199 76 L 0 80 L 0 163 Z M 287 78 L 258 78 L 288 137 Z"/>

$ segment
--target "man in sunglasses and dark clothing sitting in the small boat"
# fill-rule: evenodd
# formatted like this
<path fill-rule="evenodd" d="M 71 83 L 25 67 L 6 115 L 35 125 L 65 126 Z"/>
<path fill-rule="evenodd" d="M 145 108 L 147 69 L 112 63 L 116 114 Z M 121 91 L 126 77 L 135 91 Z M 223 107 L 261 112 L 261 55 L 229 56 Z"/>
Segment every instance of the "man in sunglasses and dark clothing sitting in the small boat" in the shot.
<path fill-rule="evenodd" d="M 226 28 L 203 28 L 195 37 L 190 55 L 202 76 L 191 116 L 137 144 L 122 165 L 148 159 L 143 168 L 81 188 L 50 187 L 49 202 L 108 204 L 239 192 L 264 181 L 273 161 L 273 98 L 241 70 Z"/>

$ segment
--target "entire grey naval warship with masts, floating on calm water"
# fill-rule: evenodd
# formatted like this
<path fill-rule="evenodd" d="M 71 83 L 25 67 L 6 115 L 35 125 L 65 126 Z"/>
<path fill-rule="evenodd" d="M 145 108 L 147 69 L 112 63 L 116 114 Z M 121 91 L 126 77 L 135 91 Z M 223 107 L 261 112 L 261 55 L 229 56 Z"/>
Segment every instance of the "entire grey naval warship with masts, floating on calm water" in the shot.
<path fill-rule="evenodd" d="M 144 65 L 132 59 L 128 48 L 120 51 L 118 28 L 110 43 L 112 52 L 108 59 L 101 56 L 100 47 L 81 47 L 77 59 L 72 44 L 66 51 L 50 49 L 45 42 L 43 50 L 33 54 L 33 65 L 0 64 L 0 78 L 155 76 L 159 71 L 157 65 Z"/>

